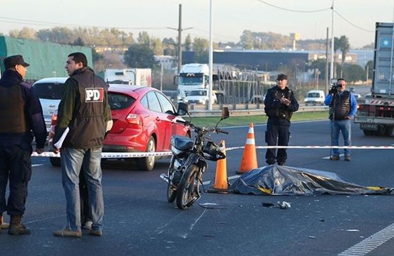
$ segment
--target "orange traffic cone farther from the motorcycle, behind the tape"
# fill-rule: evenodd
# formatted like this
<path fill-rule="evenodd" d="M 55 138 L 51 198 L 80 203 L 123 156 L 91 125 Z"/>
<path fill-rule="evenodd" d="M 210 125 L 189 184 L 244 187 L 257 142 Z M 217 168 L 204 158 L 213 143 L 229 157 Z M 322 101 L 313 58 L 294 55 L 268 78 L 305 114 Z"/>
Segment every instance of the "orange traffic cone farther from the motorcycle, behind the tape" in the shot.
<path fill-rule="evenodd" d="M 249 172 L 249 170 L 257 168 L 257 154 L 256 144 L 254 141 L 254 129 L 253 123 L 249 124 L 248 137 L 246 138 L 244 155 L 242 156 L 241 166 L 237 174 L 243 174 Z"/>

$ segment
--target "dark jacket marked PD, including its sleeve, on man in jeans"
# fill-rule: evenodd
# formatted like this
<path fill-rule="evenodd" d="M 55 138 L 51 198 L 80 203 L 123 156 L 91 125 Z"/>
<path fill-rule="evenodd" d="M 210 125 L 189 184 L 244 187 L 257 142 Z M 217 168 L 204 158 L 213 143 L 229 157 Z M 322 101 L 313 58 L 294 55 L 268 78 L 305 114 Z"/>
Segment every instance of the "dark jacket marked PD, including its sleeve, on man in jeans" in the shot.
<path fill-rule="evenodd" d="M 112 119 L 107 84 L 90 68 L 76 70 L 64 83 L 57 117 L 54 143 L 69 127 L 63 147 L 102 147 L 106 122 Z"/>

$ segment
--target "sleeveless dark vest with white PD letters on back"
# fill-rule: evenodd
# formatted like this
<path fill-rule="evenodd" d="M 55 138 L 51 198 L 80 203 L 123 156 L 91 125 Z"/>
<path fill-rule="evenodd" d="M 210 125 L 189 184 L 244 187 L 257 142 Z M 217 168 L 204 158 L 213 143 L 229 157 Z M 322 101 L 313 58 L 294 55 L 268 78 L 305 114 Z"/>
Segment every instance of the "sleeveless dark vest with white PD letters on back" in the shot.
<path fill-rule="evenodd" d="M 107 84 L 93 71 L 83 68 L 69 78 L 77 85 L 75 112 L 70 122 L 70 132 L 65 147 L 102 147 L 105 135 L 104 106 Z"/>

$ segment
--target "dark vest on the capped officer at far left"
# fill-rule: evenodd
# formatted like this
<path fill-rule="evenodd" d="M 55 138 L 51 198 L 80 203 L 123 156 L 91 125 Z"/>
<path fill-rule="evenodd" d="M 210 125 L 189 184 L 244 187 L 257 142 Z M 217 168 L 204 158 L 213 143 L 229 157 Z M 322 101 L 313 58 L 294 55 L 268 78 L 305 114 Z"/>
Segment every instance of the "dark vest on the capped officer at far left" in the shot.
<path fill-rule="evenodd" d="M 0 133 L 25 133 L 28 130 L 25 105 L 19 83 L 11 87 L 0 86 Z"/>

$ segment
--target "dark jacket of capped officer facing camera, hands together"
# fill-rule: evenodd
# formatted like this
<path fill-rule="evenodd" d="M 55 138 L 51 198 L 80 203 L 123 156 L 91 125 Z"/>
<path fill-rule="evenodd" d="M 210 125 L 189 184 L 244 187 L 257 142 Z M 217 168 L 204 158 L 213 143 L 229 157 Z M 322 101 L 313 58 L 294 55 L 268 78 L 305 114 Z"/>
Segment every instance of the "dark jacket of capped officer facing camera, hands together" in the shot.
<path fill-rule="evenodd" d="M 290 105 L 280 103 L 280 98 L 287 98 L 291 101 Z M 267 91 L 264 100 L 264 111 L 268 116 L 268 123 L 290 125 L 290 119 L 293 112 L 298 110 L 298 102 L 294 97 L 294 93 L 288 87 L 281 90 L 275 86 Z"/>

